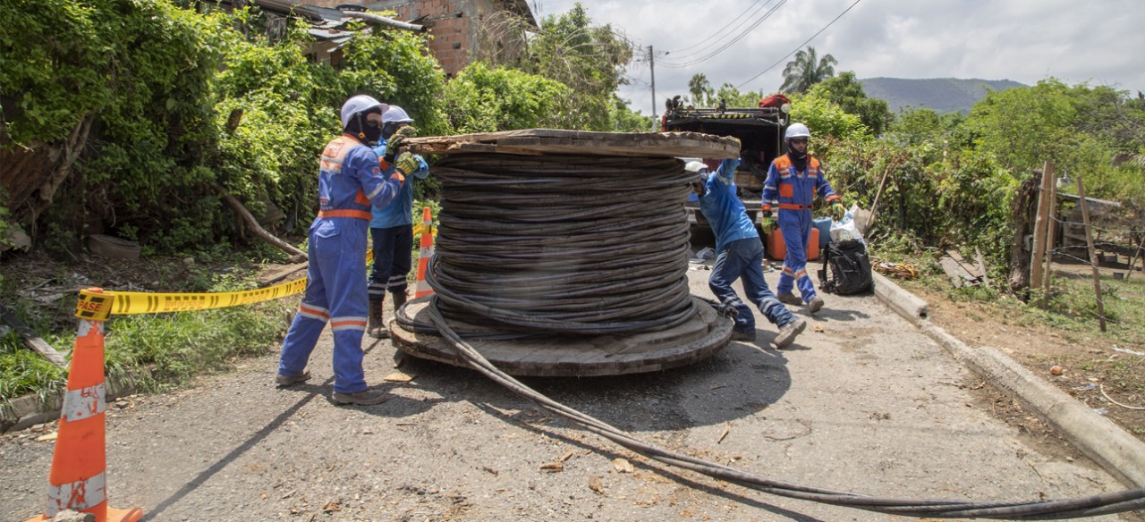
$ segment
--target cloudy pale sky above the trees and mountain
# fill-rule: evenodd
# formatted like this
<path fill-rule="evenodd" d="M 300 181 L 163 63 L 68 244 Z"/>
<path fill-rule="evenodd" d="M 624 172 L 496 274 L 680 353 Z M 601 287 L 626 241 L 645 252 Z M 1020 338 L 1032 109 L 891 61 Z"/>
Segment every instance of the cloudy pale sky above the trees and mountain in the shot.
<path fill-rule="evenodd" d="M 567 11 L 574 3 L 529 0 L 540 18 Z M 789 54 L 821 30 L 807 45 L 820 56 L 835 56 L 836 71 L 854 71 L 859 78 L 953 77 L 1033 85 L 1055 77 L 1071 85 L 1084 81 L 1145 90 L 1145 1 L 1140 0 L 582 0 L 581 5 L 594 24 L 610 24 L 645 54 L 653 47 L 657 112 L 665 97 L 687 94 L 688 79 L 696 73 L 706 74 L 713 86 L 729 82 L 740 90 L 776 90 Z M 648 113 L 653 101 L 647 58 L 627 73 L 632 85 L 621 96 Z"/>

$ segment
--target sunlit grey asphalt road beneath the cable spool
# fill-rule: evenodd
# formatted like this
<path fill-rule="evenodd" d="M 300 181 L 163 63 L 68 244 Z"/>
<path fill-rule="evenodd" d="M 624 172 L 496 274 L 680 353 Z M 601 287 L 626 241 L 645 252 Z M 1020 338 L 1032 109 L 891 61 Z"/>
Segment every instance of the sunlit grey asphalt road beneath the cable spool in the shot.
<path fill-rule="evenodd" d="M 695 294 L 711 295 L 709 274 L 689 271 Z M 646 441 L 773 480 L 968 500 L 1123 489 L 996 419 L 974 395 L 980 379 L 876 298 L 826 300 L 792 349 L 769 348 L 775 330 L 760 318 L 756 342 L 688 367 L 527 382 Z M 156 521 L 905 520 L 649 462 L 468 370 L 410 361 L 411 381 L 382 382 L 388 341 L 369 346 L 366 378 L 394 398 L 337 406 L 330 349 L 327 331 L 315 378 L 297 389 L 275 388 L 271 354 L 110 404 L 110 504 Z M 40 435 L 0 437 L 0 520 L 40 513 L 53 451 Z M 554 462 L 562 470 L 542 468 Z"/>

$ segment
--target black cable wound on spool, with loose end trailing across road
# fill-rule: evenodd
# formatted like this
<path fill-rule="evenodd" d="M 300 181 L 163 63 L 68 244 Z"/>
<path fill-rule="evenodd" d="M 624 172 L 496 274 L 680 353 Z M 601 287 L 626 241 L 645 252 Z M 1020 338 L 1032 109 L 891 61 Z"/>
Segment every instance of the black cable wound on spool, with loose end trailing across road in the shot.
<path fill-rule="evenodd" d="M 646 443 L 560 404 L 497 369 L 471 339 L 616 334 L 670 329 L 696 314 L 687 285 L 682 163 L 649 158 L 466 155 L 435 168 L 442 181 L 437 253 L 426 280 L 435 331 L 473 369 L 584 429 L 671 466 L 782 497 L 932 519 L 1063 520 L 1145 508 L 1145 488 L 1064 500 L 883 498 L 768 480 Z M 718 303 L 712 303 L 719 307 Z M 490 331 L 495 333 L 489 333 Z"/>

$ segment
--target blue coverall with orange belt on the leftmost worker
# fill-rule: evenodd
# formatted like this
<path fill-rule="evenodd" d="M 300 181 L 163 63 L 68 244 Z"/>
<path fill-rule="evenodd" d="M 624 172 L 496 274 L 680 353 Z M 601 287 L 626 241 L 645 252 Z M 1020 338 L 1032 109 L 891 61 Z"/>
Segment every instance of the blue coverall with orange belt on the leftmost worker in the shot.
<path fill-rule="evenodd" d="M 306 293 L 283 340 L 279 375 L 299 375 L 330 323 L 334 391 L 366 388 L 362 334 L 366 325 L 365 248 L 370 205 L 386 206 L 401 190 L 381 175 L 378 155 L 349 134 L 331 141 L 318 167 L 321 209 L 310 224 Z"/>

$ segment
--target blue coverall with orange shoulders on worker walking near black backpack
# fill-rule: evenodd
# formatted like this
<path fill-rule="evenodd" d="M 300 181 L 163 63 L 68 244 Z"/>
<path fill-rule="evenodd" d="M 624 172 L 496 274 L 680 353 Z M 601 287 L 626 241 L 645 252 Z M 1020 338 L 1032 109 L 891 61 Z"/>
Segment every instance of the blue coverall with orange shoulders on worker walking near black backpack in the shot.
<path fill-rule="evenodd" d="M 799 296 L 804 302 L 815 298 L 815 285 L 807 276 L 807 243 L 811 240 L 811 203 L 815 192 L 828 204 L 842 199 L 823 177 L 819 160 L 807 156 L 807 168 L 797 172 L 790 156 L 780 156 L 772 161 L 764 182 L 765 212 L 772 209 L 772 201 L 779 199 L 779 223 L 783 232 L 783 244 L 787 255 L 783 256 L 783 270 L 780 272 L 779 293 L 791 293 L 793 285 L 799 286 Z"/>

